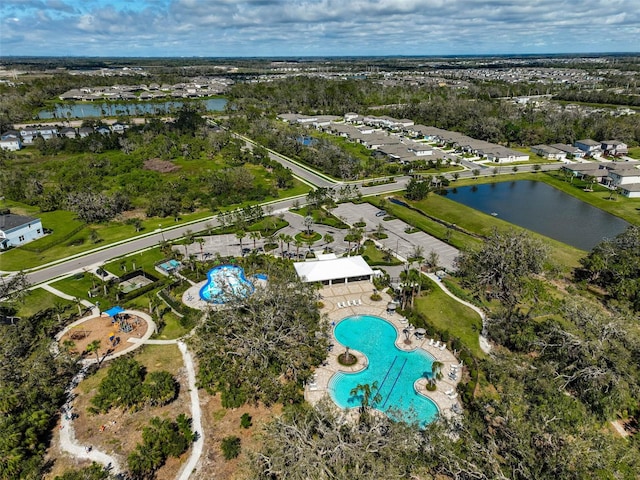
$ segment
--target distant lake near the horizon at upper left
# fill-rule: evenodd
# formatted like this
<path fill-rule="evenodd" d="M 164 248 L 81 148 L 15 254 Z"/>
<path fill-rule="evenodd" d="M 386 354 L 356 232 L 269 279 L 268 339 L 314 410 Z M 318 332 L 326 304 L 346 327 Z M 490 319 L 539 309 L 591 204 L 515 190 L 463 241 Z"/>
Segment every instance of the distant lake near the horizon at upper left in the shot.
<path fill-rule="evenodd" d="M 210 112 L 220 112 L 227 105 L 226 98 L 210 98 L 208 100 L 196 100 L 204 103 Z M 135 116 L 147 113 L 166 114 L 172 109 L 180 108 L 185 102 L 180 100 L 167 100 L 165 102 L 86 102 L 74 103 L 71 105 L 56 105 L 54 112 L 51 110 L 41 110 L 38 118 L 59 118 L 62 120 L 71 118 L 96 118 L 115 116 Z"/>

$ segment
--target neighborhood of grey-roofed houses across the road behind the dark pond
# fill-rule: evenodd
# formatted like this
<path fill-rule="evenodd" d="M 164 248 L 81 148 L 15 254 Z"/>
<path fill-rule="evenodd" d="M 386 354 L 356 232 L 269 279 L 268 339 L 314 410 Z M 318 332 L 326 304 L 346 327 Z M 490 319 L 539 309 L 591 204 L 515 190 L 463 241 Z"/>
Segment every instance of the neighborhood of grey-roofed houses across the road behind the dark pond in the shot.
<path fill-rule="evenodd" d="M 436 154 L 438 158 L 456 163 L 462 159 L 491 164 L 530 159 L 530 155 L 518 150 L 476 140 L 458 132 L 415 125 L 409 119 L 361 116 L 357 113 L 347 113 L 344 117 L 285 113 L 278 115 L 278 118 L 289 124 L 315 128 L 346 138 L 386 155 L 390 161 L 400 163 L 410 163 Z M 608 188 L 619 188 L 620 193 L 629 198 L 640 198 L 638 162 L 597 163 L 585 160 L 587 158 L 619 159 L 628 153 L 628 146 L 624 142 L 618 140 L 596 142 L 583 139 L 574 142 L 573 145 L 535 145 L 530 150 L 544 159 L 566 163 L 565 169 L 575 177 L 588 176 Z M 462 158 L 459 155 L 462 155 Z"/>

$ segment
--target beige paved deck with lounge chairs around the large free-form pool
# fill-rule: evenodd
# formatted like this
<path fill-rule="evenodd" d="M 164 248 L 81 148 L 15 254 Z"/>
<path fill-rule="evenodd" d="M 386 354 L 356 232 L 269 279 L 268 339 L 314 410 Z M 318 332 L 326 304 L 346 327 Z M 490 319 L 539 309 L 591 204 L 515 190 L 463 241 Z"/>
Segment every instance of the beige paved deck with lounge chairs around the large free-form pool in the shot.
<path fill-rule="evenodd" d="M 449 349 L 440 350 L 430 345 L 429 338 L 418 338 L 415 335 L 413 326 L 409 325 L 407 320 L 401 315 L 397 313 L 387 313 L 387 304 L 391 301 L 389 295 L 378 292 L 382 300 L 371 300 L 370 297 L 373 294 L 373 288 L 373 284 L 366 281 L 324 287 L 320 290 L 320 295 L 322 296 L 321 301 L 324 304 L 322 313 L 327 314 L 328 320 L 332 325 L 352 315 L 375 315 L 383 318 L 395 327 L 398 334 L 395 343 L 400 350 L 412 351 L 421 348 L 428 352 L 435 360 L 442 362 L 444 365 L 441 370 L 443 378 L 436 382 L 437 388 L 435 391 L 427 391 L 427 379 L 425 378 L 417 379 L 414 388 L 419 394 L 432 400 L 442 415 L 449 418 L 455 416 L 455 410 L 461 411 L 458 399 L 456 397 L 451 398 L 446 395 L 445 392 L 455 391 L 460 382 L 461 368 L 457 369 L 458 372 L 455 380 L 449 377 L 452 366 L 459 364 L 458 359 Z M 342 308 L 338 307 L 338 303 L 354 303 L 354 300 L 356 302 L 362 302 L 362 304 Z M 405 329 L 408 330 L 408 340 L 405 340 L 407 337 L 403 332 Z M 329 351 L 327 360 L 316 369 L 315 380 L 310 382 L 305 388 L 305 399 L 312 404 L 317 403 L 320 399 L 328 395 L 329 380 L 335 373 L 357 372 L 367 366 L 367 358 L 355 350 L 349 350 L 349 352 L 358 357 L 358 362 L 353 367 L 340 365 L 338 363 L 338 355 L 344 353 L 345 349 L 333 336 L 333 330 L 331 333 L 331 343 L 334 346 Z M 457 396 L 457 394 L 455 395 Z"/>

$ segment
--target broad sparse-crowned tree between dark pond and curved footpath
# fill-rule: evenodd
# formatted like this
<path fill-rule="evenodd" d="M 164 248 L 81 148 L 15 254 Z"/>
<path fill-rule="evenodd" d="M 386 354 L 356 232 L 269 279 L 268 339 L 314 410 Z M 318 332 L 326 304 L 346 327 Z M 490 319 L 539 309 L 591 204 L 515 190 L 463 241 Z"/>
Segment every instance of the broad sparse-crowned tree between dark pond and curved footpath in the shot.
<path fill-rule="evenodd" d="M 456 263 L 466 285 L 498 298 L 510 315 L 531 276 L 542 271 L 547 254 L 547 247 L 524 231 L 494 229 L 481 249 L 463 252 Z"/>

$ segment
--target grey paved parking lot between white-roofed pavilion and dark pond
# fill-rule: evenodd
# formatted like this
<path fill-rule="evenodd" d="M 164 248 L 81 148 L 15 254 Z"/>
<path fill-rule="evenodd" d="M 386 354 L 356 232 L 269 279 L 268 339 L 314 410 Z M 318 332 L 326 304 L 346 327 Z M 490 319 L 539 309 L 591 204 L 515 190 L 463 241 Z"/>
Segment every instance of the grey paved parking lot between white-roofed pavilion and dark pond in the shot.
<path fill-rule="evenodd" d="M 333 214 L 344 218 L 347 223 L 353 224 L 363 219 L 367 223 L 367 232 L 374 231 L 378 224 L 381 224 L 389 238 L 380 240 L 380 243 L 402 258 L 412 257 L 415 246 L 421 246 L 424 249 L 423 256 L 429 255 L 434 251 L 439 258 L 439 265 L 447 270 L 453 270 L 454 260 L 460 251 L 451 245 L 438 240 L 424 232 L 405 233 L 409 225 L 402 220 L 383 220 L 383 216 L 376 216 L 380 209 L 369 203 L 355 205 L 353 203 L 342 203 L 338 205 Z"/>

